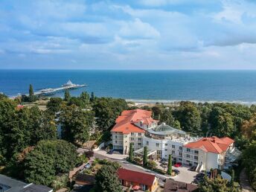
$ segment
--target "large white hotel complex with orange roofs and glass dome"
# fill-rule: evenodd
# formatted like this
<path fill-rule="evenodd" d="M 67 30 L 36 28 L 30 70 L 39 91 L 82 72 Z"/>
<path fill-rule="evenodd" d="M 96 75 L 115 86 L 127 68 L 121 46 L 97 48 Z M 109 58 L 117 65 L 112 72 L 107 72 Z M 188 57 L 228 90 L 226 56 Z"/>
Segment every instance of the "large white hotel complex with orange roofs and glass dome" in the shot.
<path fill-rule="evenodd" d="M 117 118 L 112 132 L 114 150 L 129 154 L 129 144 L 133 144 L 135 155 L 143 155 L 147 146 L 151 159 L 168 159 L 187 166 L 196 166 L 196 170 L 228 168 L 240 155 L 231 138 L 199 138 L 188 133 L 159 124 L 151 118 L 152 113 L 142 109 L 127 110 Z"/>

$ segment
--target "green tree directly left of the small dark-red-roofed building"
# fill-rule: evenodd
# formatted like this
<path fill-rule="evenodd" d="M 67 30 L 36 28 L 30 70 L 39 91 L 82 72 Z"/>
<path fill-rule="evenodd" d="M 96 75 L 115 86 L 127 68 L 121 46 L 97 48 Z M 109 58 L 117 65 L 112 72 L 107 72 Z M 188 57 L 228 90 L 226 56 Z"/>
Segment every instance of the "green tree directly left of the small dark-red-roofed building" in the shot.
<path fill-rule="evenodd" d="M 95 191 L 121 192 L 121 182 L 118 179 L 118 167 L 113 164 L 104 164 L 95 175 Z"/>

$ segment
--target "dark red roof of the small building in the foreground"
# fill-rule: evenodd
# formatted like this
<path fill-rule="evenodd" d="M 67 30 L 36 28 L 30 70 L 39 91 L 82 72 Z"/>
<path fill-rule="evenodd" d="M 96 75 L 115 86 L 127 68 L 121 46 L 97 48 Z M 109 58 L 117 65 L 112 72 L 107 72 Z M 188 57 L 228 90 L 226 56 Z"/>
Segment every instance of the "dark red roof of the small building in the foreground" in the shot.
<path fill-rule="evenodd" d="M 138 184 L 152 186 L 155 181 L 155 175 L 149 173 L 141 173 L 134 170 L 127 170 L 124 168 L 118 169 L 118 178 L 128 182 L 135 182 Z"/>

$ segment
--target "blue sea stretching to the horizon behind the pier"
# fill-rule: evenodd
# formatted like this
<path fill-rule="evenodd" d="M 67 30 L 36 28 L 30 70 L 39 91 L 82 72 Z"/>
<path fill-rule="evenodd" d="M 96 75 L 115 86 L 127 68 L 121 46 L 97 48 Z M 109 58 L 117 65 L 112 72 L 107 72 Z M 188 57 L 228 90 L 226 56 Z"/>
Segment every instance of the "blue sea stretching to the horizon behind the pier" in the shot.
<path fill-rule="evenodd" d="M 256 71 L 93 71 L 0 70 L 0 92 L 8 96 L 57 88 L 71 80 L 87 86 L 71 95 L 95 92 L 98 97 L 121 97 L 137 102 L 179 100 L 256 103 Z M 63 92 L 56 96 L 63 96 Z"/>

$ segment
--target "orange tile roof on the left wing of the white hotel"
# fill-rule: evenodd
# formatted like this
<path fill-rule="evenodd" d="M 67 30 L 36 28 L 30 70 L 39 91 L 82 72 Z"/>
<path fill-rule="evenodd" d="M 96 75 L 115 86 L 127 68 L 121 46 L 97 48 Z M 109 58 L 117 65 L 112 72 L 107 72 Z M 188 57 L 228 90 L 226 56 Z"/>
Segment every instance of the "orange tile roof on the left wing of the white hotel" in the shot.
<path fill-rule="evenodd" d="M 145 132 L 144 129 L 135 126 L 133 123 L 141 119 L 147 119 L 147 121 L 151 121 L 151 115 L 152 112 L 142 109 L 125 110 L 115 120 L 115 126 L 111 131 L 123 132 L 124 134 L 128 134 L 129 132 Z"/>

